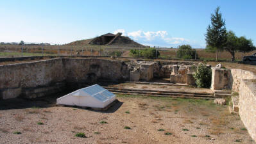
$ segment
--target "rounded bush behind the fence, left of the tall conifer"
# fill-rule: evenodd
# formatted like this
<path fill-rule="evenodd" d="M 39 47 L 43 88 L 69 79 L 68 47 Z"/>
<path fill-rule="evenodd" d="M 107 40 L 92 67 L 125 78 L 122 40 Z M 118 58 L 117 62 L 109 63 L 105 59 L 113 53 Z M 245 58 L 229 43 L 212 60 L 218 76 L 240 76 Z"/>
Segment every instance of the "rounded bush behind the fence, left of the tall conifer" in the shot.
<path fill-rule="evenodd" d="M 194 59 L 196 50 L 193 50 L 191 45 L 182 45 L 178 48 L 177 57 L 182 59 Z"/>

